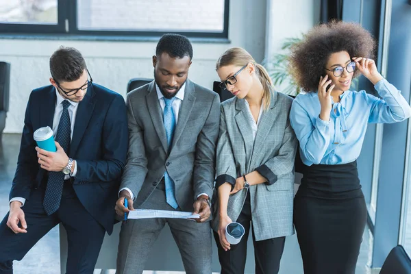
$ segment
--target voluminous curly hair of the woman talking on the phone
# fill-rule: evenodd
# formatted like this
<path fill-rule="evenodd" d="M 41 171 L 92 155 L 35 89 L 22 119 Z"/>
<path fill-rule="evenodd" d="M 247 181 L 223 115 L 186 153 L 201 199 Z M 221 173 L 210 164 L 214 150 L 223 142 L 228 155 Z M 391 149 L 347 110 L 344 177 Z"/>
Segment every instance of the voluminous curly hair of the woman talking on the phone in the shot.
<path fill-rule="evenodd" d="M 306 92 L 317 90 L 332 53 L 347 51 L 351 58 L 373 58 L 375 40 L 357 23 L 332 21 L 313 27 L 291 48 L 289 69 L 295 82 Z M 354 71 L 357 77 L 360 71 Z"/>

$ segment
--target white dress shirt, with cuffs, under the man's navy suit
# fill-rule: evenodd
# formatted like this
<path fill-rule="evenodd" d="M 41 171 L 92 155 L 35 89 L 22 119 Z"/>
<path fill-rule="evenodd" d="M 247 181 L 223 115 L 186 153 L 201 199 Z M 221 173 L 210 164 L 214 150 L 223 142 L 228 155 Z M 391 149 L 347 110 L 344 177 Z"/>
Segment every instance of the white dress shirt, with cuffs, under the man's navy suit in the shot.
<path fill-rule="evenodd" d="M 55 109 L 54 109 L 54 116 L 53 116 L 53 137 L 55 140 L 55 136 L 57 136 L 57 130 L 58 130 L 58 124 L 60 123 L 60 118 L 62 116 L 63 113 L 63 105 L 62 102 L 65 99 L 64 97 L 62 97 L 62 95 L 60 95 L 60 93 L 58 92 L 57 89 L 55 89 L 55 95 L 57 97 L 57 100 L 55 100 Z M 67 109 L 69 111 L 69 116 L 70 116 L 70 121 L 71 121 L 71 135 L 70 138 L 73 139 L 73 132 L 74 132 L 74 123 L 75 123 L 75 116 L 77 115 L 77 108 L 79 106 L 78 102 L 73 102 L 70 100 L 69 101 L 70 105 L 69 108 Z M 68 153 L 68 151 L 66 151 L 66 153 Z M 77 164 L 75 163 L 75 161 L 73 161 L 74 164 L 74 171 L 73 173 L 64 176 L 64 179 L 69 179 L 70 177 L 75 177 L 76 173 L 77 173 Z M 25 199 L 23 197 L 14 197 L 12 199 L 10 199 L 10 203 L 12 201 L 20 201 L 21 203 L 25 203 Z"/>

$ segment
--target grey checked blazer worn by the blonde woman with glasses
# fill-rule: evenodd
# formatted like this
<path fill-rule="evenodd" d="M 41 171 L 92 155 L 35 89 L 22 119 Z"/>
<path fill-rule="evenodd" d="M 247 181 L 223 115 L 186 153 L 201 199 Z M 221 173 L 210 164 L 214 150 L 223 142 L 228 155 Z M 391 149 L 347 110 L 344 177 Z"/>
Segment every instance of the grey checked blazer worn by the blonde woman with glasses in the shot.
<path fill-rule="evenodd" d="M 250 186 L 230 195 L 227 214 L 236 221 L 247 196 L 251 195 L 251 219 L 256 240 L 294 233 L 292 206 L 294 197 L 294 160 L 297 138 L 290 125 L 292 99 L 273 92 L 264 110 L 253 142 L 245 99 L 236 97 L 221 103 L 219 142 L 217 145 L 216 186 L 252 171 L 267 182 Z M 219 201 L 214 190 L 212 227 L 219 227 Z"/>

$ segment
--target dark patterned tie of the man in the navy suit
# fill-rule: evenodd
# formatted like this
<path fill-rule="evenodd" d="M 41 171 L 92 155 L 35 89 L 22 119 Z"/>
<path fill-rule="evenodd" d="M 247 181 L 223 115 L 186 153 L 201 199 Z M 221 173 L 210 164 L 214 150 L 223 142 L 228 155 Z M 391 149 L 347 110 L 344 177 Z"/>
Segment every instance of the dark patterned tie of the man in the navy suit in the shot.
<path fill-rule="evenodd" d="M 62 146 L 66 154 L 69 154 L 70 147 L 70 135 L 71 135 L 71 122 L 69 115 L 70 102 L 67 100 L 62 101 L 63 112 L 58 124 L 57 135 L 55 140 Z M 43 207 L 47 215 L 51 215 L 60 208 L 60 201 L 62 199 L 64 184 L 64 173 L 49 172 L 49 180 L 47 181 L 47 187 L 45 192 L 45 199 L 43 201 Z"/>

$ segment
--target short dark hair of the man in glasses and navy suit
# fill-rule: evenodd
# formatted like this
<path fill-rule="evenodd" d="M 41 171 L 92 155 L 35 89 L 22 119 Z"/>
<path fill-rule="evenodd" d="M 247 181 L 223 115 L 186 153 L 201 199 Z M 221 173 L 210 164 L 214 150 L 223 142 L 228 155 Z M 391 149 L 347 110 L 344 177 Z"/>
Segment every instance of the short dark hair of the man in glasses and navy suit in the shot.
<path fill-rule="evenodd" d="M 73 82 L 83 75 L 84 69 L 87 69 L 86 61 L 73 47 L 62 46 L 51 55 L 50 73 L 56 82 Z"/>

